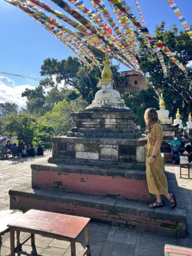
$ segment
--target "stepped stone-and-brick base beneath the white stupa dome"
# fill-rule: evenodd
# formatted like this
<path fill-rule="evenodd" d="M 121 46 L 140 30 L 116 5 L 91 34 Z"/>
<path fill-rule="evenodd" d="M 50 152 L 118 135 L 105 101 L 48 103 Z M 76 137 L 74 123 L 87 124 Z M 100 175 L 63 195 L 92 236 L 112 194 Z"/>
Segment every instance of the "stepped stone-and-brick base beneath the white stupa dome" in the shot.
<path fill-rule="evenodd" d="M 127 109 L 109 110 L 83 110 L 67 136 L 52 138 L 49 163 L 31 165 L 31 187 L 10 190 L 10 208 L 74 214 L 185 236 L 182 202 L 175 209 L 147 207 L 151 196 L 145 173 L 146 141 L 136 139 L 141 135 L 132 128 L 136 116 Z"/>

